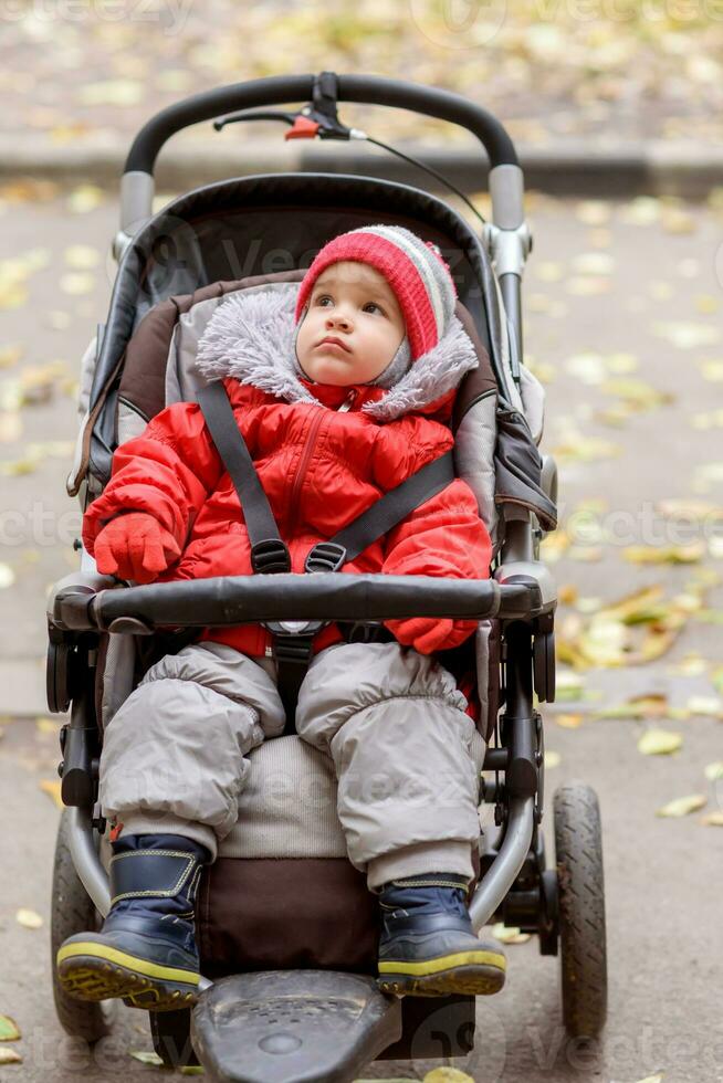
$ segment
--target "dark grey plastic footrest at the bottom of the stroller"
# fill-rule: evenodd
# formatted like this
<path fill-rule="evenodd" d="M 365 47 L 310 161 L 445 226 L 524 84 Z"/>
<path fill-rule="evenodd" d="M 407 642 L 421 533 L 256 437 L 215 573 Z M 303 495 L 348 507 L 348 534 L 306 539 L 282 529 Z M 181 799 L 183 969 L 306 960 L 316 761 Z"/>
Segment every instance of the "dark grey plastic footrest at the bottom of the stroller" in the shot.
<path fill-rule="evenodd" d="M 224 1083 L 342 1083 L 400 1037 L 400 1001 L 336 970 L 222 978 L 191 1017 L 193 1049 Z"/>

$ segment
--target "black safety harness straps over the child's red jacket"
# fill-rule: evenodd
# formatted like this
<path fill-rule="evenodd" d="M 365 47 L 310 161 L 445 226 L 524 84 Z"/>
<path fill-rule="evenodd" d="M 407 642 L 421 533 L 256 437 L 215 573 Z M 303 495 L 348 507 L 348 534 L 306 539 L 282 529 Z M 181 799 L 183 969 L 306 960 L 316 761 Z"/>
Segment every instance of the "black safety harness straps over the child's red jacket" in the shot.
<path fill-rule="evenodd" d="M 251 542 L 251 566 L 254 572 L 268 575 L 291 571 L 289 547 L 279 534 L 269 498 L 233 417 L 223 383 L 220 380 L 209 383 L 198 392 L 198 402 L 239 496 Z M 452 481 L 454 462 L 452 452 L 448 451 L 385 493 L 328 542 L 318 542 L 306 557 L 304 571 L 338 571 L 348 560 L 358 557 L 373 542 L 398 526 L 411 512 Z M 325 623 L 328 622 L 314 621 L 311 628 L 306 627 L 301 632 L 289 631 L 275 621 L 265 622 L 264 625 L 273 635 L 274 655 L 279 666 L 279 693 L 291 732 L 296 696 L 312 656 L 314 635 Z"/>

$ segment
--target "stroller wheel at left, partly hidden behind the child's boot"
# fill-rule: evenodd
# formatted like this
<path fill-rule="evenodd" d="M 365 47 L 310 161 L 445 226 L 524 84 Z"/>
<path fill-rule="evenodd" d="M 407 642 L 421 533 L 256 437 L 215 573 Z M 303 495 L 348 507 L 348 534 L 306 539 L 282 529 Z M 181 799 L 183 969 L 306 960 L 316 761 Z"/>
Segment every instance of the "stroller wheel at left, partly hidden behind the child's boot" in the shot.
<path fill-rule="evenodd" d="M 76 933 L 96 932 L 102 917 L 75 872 L 70 848 L 70 810 L 64 809 L 57 828 L 55 863 L 53 866 L 53 895 L 51 903 L 51 974 L 53 999 L 62 1028 L 74 1038 L 97 1042 L 113 1029 L 118 1008 L 116 1000 L 97 1003 L 74 1000 L 61 988 L 55 969 L 55 956 L 63 940 Z"/>

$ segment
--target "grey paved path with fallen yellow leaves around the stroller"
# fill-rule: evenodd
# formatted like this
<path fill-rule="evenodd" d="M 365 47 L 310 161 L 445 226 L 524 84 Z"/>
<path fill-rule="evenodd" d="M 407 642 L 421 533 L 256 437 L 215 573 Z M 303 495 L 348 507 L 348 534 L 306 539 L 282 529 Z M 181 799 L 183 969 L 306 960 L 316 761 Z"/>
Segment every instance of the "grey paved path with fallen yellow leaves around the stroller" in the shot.
<path fill-rule="evenodd" d="M 2 265 L 1 297 L 7 304 L 23 278 L 29 288 L 24 301 L 15 294 L 19 307 L 0 312 L 0 463 L 6 464 L 0 476 L 0 581 L 9 583 L 0 591 L 0 676 L 9 698 L 18 693 L 18 702 L 27 673 L 40 673 L 45 587 L 72 564 L 76 524 L 63 490 L 69 454 L 64 443 L 54 443 L 74 435 L 71 389 L 64 379 L 72 380 L 94 322 L 104 318 L 109 293 L 105 251 L 115 230 L 115 207 L 102 202 L 76 213 L 78 198 L 76 193 L 70 203 L 65 196 L 8 203 L 1 223 L 3 260 L 10 261 Z M 690 604 L 695 574 L 720 571 L 720 547 L 715 539 L 709 545 L 700 526 L 688 536 L 705 542 L 693 564 L 637 565 L 626 559 L 625 550 L 680 540 L 672 536 L 670 522 L 667 533 L 654 533 L 663 525 L 663 500 L 695 497 L 721 505 L 721 385 L 710 379 L 717 376 L 720 381 L 723 375 L 721 219 L 700 208 L 657 202 L 615 204 L 609 221 L 606 207 L 546 199 L 531 206 L 535 254 L 526 282 L 526 343 L 532 364 L 548 381 L 544 445 L 563 449 L 560 519 L 574 544 L 556 560 L 554 574 L 567 599 L 560 606 L 560 638 L 576 643 L 576 622 L 585 625 L 596 604 L 656 583 L 668 601 L 684 593 Z M 87 253 L 66 252 L 77 244 L 98 252 L 92 283 L 64 277 L 71 270 L 86 273 L 67 263 L 90 262 Z M 90 291 L 66 292 L 81 285 Z M 21 357 L 13 364 L 14 344 Z M 55 360 L 64 367 L 45 370 Z M 637 368 L 629 371 L 633 364 Z M 35 388 L 28 393 L 38 401 L 17 412 L 17 382 L 23 374 L 27 390 Z M 650 391 L 640 385 L 636 390 L 607 382 L 631 379 L 670 395 L 672 401 L 632 413 L 616 427 L 615 417 L 601 418 L 600 409 L 619 403 L 624 395 L 626 401 L 630 395 L 638 402 L 650 401 Z M 589 438 L 619 445 L 619 454 L 591 448 Z M 583 451 L 599 458 L 576 461 Z M 24 463 L 29 472 L 4 476 L 15 469 L 8 463 Z M 602 504 L 588 507 L 583 537 L 580 504 L 590 500 Z M 709 513 L 709 527 L 716 522 Z M 612 532 L 617 543 L 608 536 Z M 548 558 L 554 557 L 548 549 Z M 720 616 L 720 585 L 708 583 L 705 606 Z M 723 637 L 720 623 L 706 616 L 691 617 L 670 650 L 653 662 L 583 672 L 587 698 L 560 700 L 544 712 L 547 747 L 559 757 L 547 772 L 547 807 L 555 787 L 570 778 L 585 779 L 600 798 L 609 1021 L 595 1055 L 584 1055 L 562 1030 L 558 960 L 541 957 L 532 940 L 511 945 L 507 987 L 480 1005 L 478 1049 L 457 1064 L 479 1083 L 633 1083 L 656 1073 L 664 1073 L 664 1083 L 723 1079 L 717 968 L 723 835 L 701 822 L 703 814 L 723 810 L 720 784 L 716 791 L 704 776 L 706 765 L 723 758 L 721 721 L 713 716 L 720 703 L 711 703 Z M 13 674 L 22 677 L 14 681 L 14 691 Z M 23 687 L 18 691 L 19 683 Z M 661 718 L 590 717 L 600 705 L 643 693 L 668 696 Z M 687 707 L 693 695 L 699 697 L 696 709 L 713 715 L 671 718 L 670 708 Z M 11 1014 L 20 1026 L 23 1038 L 14 1048 L 24 1059 L 22 1065 L 0 1066 L 0 1080 L 140 1080 L 149 1070 L 130 1060 L 128 1050 L 150 1048 L 144 1017 L 124 1011 L 114 1038 L 90 1052 L 73 1048 L 53 1014 L 46 927 L 57 811 L 40 784 L 53 778 L 57 753 L 53 727 L 36 723 L 34 714 L 45 712 L 31 706 L 30 717 L 4 722 L 0 742 L 6 829 L 0 1013 Z M 577 715 L 583 716 L 580 724 L 569 728 Z M 637 739 L 653 725 L 682 734 L 677 754 L 646 757 L 638 751 Z M 705 796 L 704 809 L 681 819 L 656 817 L 656 809 L 670 799 L 691 793 Z M 546 823 L 549 837 L 549 817 Z M 19 907 L 40 913 L 44 927 L 20 927 L 14 916 Z M 379 1063 L 365 1075 L 422 1077 L 440 1063 Z"/>

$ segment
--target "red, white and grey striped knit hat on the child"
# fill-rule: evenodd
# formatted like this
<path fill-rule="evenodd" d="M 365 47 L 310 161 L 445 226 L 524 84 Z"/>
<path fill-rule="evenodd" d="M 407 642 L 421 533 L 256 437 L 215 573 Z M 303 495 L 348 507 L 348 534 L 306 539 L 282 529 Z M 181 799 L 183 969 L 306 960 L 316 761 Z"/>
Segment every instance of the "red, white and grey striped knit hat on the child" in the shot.
<path fill-rule="evenodd" d="M 345 260 L 368 263 L 394 290 L 405 317 L 412 361 L 438 344 L 454 313 L 454 282 L 438 246 L 401 225 L 365 225 L 325 244 L 302 278 L 296 323 L 322 272 Z"/>

